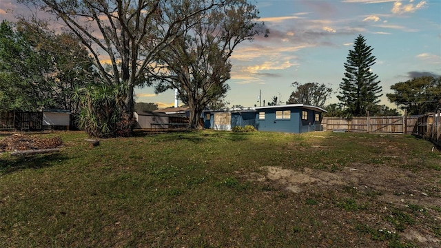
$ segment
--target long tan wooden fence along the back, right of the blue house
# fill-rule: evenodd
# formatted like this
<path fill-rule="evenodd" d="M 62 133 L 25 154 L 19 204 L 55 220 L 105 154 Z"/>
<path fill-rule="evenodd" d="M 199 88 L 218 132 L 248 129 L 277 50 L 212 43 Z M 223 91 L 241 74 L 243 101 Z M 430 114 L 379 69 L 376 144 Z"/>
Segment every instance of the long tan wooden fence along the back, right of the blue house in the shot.
<path fill-rule="evenodd" d="M 324 117 L 323 130 L 411 134 L 418 116 L 361 116 L 352 118 Z"/>

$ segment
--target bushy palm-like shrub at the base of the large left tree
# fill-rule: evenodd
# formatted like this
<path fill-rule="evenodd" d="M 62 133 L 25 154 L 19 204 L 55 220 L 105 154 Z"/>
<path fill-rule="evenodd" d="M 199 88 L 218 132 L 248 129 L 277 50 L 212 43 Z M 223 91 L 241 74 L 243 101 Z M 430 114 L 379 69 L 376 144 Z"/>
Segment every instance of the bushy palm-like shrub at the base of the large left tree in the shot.
<path fill-rule="evenodd" d="M 130 136 L 134 118 L 125 110 L 125 85 L 88 85 L 74 88 L 73 101 L 80 107 L 77 124 L 92 137 Z"/>

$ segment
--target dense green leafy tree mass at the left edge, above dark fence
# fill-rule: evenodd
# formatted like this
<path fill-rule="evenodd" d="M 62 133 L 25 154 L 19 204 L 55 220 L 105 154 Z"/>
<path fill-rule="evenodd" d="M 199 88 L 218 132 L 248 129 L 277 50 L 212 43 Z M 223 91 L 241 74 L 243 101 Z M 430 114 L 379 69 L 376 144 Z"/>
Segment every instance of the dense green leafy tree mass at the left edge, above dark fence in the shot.
<path fill-rule="evenodd" d="M 0 111 L 76 111 L 72 89 L 94 80 L 76 37 L 28 23 L 0 24 Z"/>

